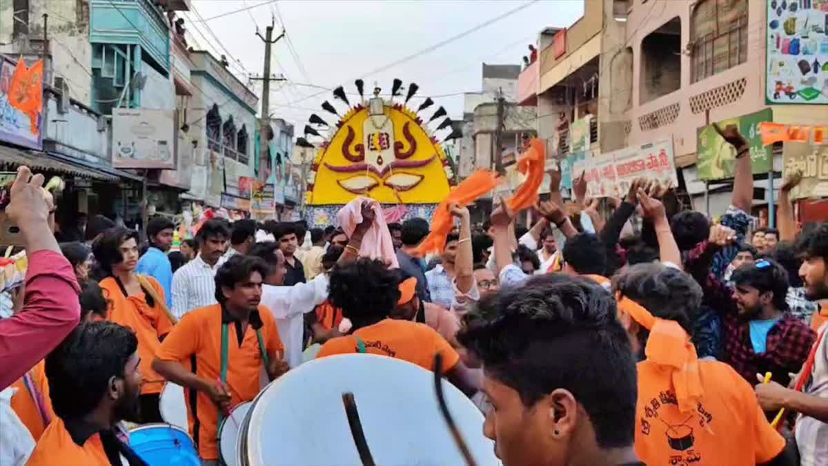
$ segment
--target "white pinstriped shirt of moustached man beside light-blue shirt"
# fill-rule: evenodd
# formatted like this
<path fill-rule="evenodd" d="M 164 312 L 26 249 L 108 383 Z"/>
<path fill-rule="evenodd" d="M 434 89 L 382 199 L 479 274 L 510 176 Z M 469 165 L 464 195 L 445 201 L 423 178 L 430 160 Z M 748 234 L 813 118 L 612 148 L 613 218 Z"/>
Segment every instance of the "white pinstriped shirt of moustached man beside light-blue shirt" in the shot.
<path fill-rule="evenodd" d="M 215 304 L 215 272 L 224 260 L 210 267 L 201 255 L 172 274 L 172 314 L 181 319 L 185 313 Z"/>

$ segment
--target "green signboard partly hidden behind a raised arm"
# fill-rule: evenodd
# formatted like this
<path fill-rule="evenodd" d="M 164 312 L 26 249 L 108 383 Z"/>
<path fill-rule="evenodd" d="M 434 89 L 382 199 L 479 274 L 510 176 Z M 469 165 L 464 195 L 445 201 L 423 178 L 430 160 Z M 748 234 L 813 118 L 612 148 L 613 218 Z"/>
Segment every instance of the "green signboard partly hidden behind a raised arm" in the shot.
<path fill-rule="evenodd" d="M 772 148 L 762 143 L 759 124 L 773 121 L 773 110 L 763 109 L 753 114 L 724 119 L 717 124 L 721 129 L 729 124 L 739 128 L 750 146 L 750 160 L 753 173 L 767 173 L 773 163 Z M 702 126 L 697 132 L 699 160 L 696 167 L 699 179 L 705 181 L 724 180 L 736 174 L 736 149 L 716 133 L 712 124 Z"/>

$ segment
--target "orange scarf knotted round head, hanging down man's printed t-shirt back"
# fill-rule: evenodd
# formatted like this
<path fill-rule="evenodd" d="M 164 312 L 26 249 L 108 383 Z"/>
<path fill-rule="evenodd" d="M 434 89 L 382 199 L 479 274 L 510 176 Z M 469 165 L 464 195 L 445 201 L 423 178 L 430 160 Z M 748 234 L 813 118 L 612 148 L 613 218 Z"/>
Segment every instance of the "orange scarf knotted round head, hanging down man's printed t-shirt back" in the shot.
<path fill-rule="evenodd" d="M 632 318 L 650 331 L 644 354 L 647 360 L 670 369 L 678 409 L 681 412 L 695 410 L 705 391 L 701 387 L 699 357 L 696 356 L 696 347 L 690 341 L 690 336 L 678 323 L 652 317 L 647 309 L 632 299 L 620 294 L 617 295 L 617 299 L 619 313 L 626 314 L 628 318 Z M 625 318 L 622 316 L 621 320 L 624 322 Z M 638 380 L 642 385 L 647 382 Z"/>

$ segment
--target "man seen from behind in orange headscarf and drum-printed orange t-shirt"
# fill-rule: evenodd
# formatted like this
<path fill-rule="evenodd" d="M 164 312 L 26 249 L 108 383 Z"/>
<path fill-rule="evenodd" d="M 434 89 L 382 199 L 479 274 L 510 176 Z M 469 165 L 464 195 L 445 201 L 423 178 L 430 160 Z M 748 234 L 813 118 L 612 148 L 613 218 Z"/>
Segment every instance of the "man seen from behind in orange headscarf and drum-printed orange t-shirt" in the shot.
<path fill-rule="evenodd" d="M 730 466 L 781 457 L 785 439 L 768 424 L 747 381 L 724 362 L 696 357 L 690 336 L 702 297 L 696 280 L 651 263 L 629 267 L 613 286 L 633 349 L 646 345 L 646 359 L 638 362 L 638 457 L 645 464 Z"/>

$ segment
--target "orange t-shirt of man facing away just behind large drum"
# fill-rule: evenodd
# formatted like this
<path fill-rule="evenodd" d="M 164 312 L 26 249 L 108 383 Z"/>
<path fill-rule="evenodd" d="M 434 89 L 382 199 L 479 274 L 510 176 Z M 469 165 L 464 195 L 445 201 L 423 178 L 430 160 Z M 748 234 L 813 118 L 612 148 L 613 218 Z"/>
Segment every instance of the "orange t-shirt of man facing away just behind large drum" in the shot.
<path fill-rule="evenodd" d="M 366 352 L 395 357 L 412 362 L 429 371 L 434 368 L 434 357 L 443 355 L 443 372 L 451 371 L 460 361 L 460 355 L 444 337 L 425 323 L 387 318 L 354 332 L 365 344 Z M 358 352 L 353 335 L 331 338 L 322 345 L 316 357 Z"/>

